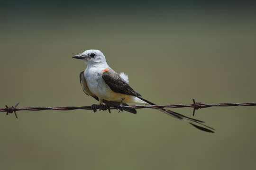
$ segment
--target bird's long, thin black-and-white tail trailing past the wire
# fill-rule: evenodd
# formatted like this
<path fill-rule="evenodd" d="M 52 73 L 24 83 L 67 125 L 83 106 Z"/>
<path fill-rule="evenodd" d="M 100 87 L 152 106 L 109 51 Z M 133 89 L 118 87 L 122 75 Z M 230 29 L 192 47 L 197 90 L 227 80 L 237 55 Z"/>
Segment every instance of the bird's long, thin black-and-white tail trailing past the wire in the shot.
<path fill-rule="evenodd" d="M 148 103 L 149 105 L 155 105 L 154 103 L 149 102 L 149 101 L 147 101 L 146 99 L 143 99 L 143 98 L 141 98 L 141 97 L 138 97 L 138 96 L 137 96 L 137 98 L 139 98 L 140 100 L 142 100 L 142 101 Z M 170 116 L 172 116 L 172 117 L 174 117 L 174 118 L 177 118 L 177 119 L 186 121 L 186 122 L 188 122 L 189 124 L 191 124 L 193 127 L 196 127 L 196 128 L 198 128 L 198 129 L 200 129 L 200 130 L 202 130 L 202 131 L 214 133 L 214 131 L 213 131 L 214 128 L 209 127 L 209 126 L 207 126 L 207 125 L 204 125 L 204 124 L 203 124 L 204 121 L 201 121 L 201 120 L 198 120 L 198 119 L 189 118 L 189 117 L 184 116 L 184 115 L 182 115 L 182 114 L 180 114 L 180 113 L 174 112 L 174 111 L 172 111 L 172 110 L 167 110 L 167 109 L 164 109 L 164 108 L 162 108 L 162 109 L 157 109 L 157 110 L 162 111 L 162 112 L 164 112 L 165 114 L 170 115 Z"/>

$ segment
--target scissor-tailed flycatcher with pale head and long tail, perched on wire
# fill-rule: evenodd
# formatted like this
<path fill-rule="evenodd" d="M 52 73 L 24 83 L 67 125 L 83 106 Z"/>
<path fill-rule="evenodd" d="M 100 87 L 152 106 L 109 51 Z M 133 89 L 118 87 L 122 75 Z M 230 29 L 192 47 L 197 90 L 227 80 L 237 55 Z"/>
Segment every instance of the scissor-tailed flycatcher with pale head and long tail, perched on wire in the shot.
<path fill-rule="evenodd" d="M 86 50 L 78 55 L 73 56 L 74 59 L 80 59 L 85 62 L 87 68 L 79 74 L 80 84 L 85 94 L 90 95 L 100 102 L 100 110 L 105 106 L 114 106 L 120 111 L 128 111 L 136 114 L 137 110 L 128 108 L 127 103 L 136 103 L 144 105 L 155 105 L 153 102 L 142 98 L 129 85 L 128 76 L 125 73 L 116 73 L 108 65 L 104 54 L 100 50 Z M 96 112 L 96 105 L 92 104 L 91 109 Z M 204 124 L 204 121 L 193 119 L 164 108 L 157 109 L 176 119 L 183 120 L 193 127 L 205 132 L 214 133 L 214 128 Z M 110 111 L 110 110 L 109 110 Z"/>

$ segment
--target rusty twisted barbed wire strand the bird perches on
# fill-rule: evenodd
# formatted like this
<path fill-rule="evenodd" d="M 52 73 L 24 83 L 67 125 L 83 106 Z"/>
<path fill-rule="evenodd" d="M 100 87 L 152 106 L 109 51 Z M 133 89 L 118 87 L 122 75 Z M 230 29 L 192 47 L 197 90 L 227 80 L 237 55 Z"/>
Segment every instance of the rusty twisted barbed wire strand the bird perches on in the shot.
<path fill-rule="evenodd" d="M 6 112 L 6 115 L 14 113 L 15 117 L 18 118 L 17 112 L 20 110 L 29 110 L 29 111 L 38 111 L 38 110 L 93 110 L 100 109 L 101 110 L 113 110 L 117 109 L 117 107 L 114 106 L 107 106 L 104 105 L 104 107 L 101 107 L 101 105 L 95 104 L 93 109 L 91 106 L 64 106 L 64 107 L 25 107 L 25 108 L 17 108 L 19 103 L 17 103 L 15 106 L 7 106 L 5 105 L 5 108 L 0 109 L 0 112 Z M 184 107 L 190 107 L 193 108 L 193 116 L 195 114 L 195 110 L 208 108 L 208 107 L 228 107 L 228 106 L 256 106 L 256 102 L 246 102 L 246 103 L 216 103 L 216 104 L 206 104 L 202 102 L 195 102 L 193 99 L 193 104 L 167 104 L 167 105 L 132 105 L 132 106 L 123 106 L 123 108 L 133 108 L 133 109 L 161 109 L 161 108 L 184 108 Z M 111 113 L 111 112 L 110 112 Z"/>

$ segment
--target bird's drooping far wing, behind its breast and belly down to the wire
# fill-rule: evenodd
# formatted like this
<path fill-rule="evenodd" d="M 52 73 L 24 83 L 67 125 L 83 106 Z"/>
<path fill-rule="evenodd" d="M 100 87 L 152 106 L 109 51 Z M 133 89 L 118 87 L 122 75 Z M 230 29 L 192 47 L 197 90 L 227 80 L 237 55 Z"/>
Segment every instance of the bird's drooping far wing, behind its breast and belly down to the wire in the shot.
<path fill-rule="evenodd" d="M 95 94 L 91 93 L 90 89 L 88 88 L 85 77 L 83 75 L 83 71 L 80 73 L 79 78 L 80 78 L 80 84 L 82 86 L 83 92 L 87 95 L 90 95 L 95 100 L 99 101 L 99 98 Z M 114 106 L 114 107 L 118 107 L 119 104 L 120 104 L 119 102 L 112 102 L 112 101 L 107 101 L 107 100 L 103 100 L 103 102 L 106 103 L 109 106 Z M 128 106 L 127 103 L 123 103 L 123 105 Z M 123 109 L 128 111 L 128 112 L 134 113 L 134 114 L 137 113 L 137 111 L 133 108 L 123 108 Z"/>

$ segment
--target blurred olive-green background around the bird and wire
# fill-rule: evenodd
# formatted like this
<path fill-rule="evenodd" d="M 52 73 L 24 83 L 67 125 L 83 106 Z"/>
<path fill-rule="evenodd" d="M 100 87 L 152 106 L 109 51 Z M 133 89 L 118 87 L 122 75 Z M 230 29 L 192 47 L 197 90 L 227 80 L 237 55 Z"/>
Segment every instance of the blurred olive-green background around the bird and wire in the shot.
<path fill-rule="evenodd" d="M 256 102 L 256 8 L 216 1 L 2 2 L 0 103 L 86 106 L 72 59 L 101 50 L 158 104 Z M 192 109 L 174 109 L 192 116 Z M 1 113 L 2 170 L 254 169 L 256 107 L 196 111 L 215 134 L 158 112 Z"/>

